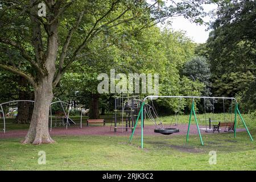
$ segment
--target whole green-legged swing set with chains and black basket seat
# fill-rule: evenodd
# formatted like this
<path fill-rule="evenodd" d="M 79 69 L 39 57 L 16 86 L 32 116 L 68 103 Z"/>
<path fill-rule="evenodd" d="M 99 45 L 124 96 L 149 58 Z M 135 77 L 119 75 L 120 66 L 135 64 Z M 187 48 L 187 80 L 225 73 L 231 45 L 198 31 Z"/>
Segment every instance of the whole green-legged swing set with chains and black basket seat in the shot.
<path fill-rule="evenodd" d="M 142 101 L 141 109 L 139 110 L 139 114 L 138 114 L 138 117 L 137 117 L 135 125 L 134 125 L 133 133 L 131 134 L 131 136 L 129 138 L 129 142 L 131 142 L 131 140 L 133 139 L 136 127 L 138 125 L 139 118 L 141 117 L 141 123 L 142 123 L 142 125 L 141 125 L 141 148 L 143 148 L 143 123 L 144 123 L 143 111 L 146 111 L 146 113 L 148 115 L 148 118 L 150 118 L 151 121 L 153 121 L 155 123 L 155 126 L 156 126 L 156 129 L 154 130 L 155 133 L 161 133 L 161 134 L 164 134 L 164 135 L 168 135 L 168 134 L 179 132 L 179 129 L 164 128 L 163 123 L 161 121 L 160 121 L 160 124 L 158 124 L 156 122 L 156 119 L 153 117 L 152 113 L 154 113 L 154 115 L 157 118 L 159 118 L 159 117 L 158 117 L 158 114 L 156 113 L 154 105 L 146 104 L 147 100 L 151 100 L 151 102 L 152 102 L 152 100 L 156 99 L 156 98 L 180 98 L 180 100 L 182 100 L 183 98 L 192 98 L 192 106 L 191 106 L 191 111 L 190 111 L 190 114 L 189 114 L 186 142 L 188 142 L 188 139 L 189 139 L 189 129 L 190 129 L 190 126 L 191 126 L 191 119 L 192 119 L 192 115 L 193 115 L 193 117 L 195 118 L 196 127 L 197 127 L 197 131 L 199 133 L 199 138 L 200 138 L 201 145 L 204 145 L 204 142 L 203 142 L 203 139 L 201 137 L 201 133 L 200 133 L 200 129 L 199 129 L 199 123 L 198 123 L 197 117 L 196 117 L 195 99 L 203 98 L 204 103 L 205 103 L 205 99 L 213 100 L 213 102 L 214 102 L 215 99 L 222 99 L 223 101 L 224 100 L 231 100 L 232 103 L 233 103 L 233 101 L 235 101 L 236 104 L 235 104 L 235 108 L 234 108 L 234 128 L 233 128 L 234 138 L 236 138 L 236 135 L 237 135 L 236 134 L 236 126 L 237 126 L 237 114 L 238 114 L 241 118 L 243 126 L 245 127 L 245 129 L 247 131 L 247 134 L 250 137 L 250 140 L 253 141 L 253 137 L 251 137 L 251 134 L 250 134 L 249 130 L 247 129 L 246 123 L 243 120 L 243 117 L 240 113 L 240 110 L 238 109 L 238 102 L 237 102 L 236 98 L 233 98 L 233 97 L 197 97 L 197 96 L 147 96 Z M 144 109 L 144 107 L 145 107 L 145 109 Z M 205 107 L 205 104 L 204 104 L 204 107 Z M 214 109 L 214 106 L 213 106 L 213 109 Z M 151 110 L 152 110 L 152 112 L 151 112 Z M 225 111 L 225 108 L 224 108 L 224 111 Z M 205 109 L 205 112 L 206 112 L 206 109 Z"/>

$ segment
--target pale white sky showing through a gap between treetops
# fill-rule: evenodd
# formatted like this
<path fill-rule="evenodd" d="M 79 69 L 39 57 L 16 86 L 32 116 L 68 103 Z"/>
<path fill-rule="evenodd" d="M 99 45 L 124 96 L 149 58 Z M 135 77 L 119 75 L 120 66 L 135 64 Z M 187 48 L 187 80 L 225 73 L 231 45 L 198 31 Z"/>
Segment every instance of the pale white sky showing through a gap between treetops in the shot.
<path fill-rule="evenodd" d="M 204 5 L 203 7 L 206 12 L 209 12 L 216 9 L 217 5 Z M 204 17 L 203 19 L 205 22 L 212 20 L 210 16 Z M 186 35 L 196 43 L 205 43 L 209 37 L 210 31 L 206 31 L 208 28 L 207 26 L 189 22 L 189 20 L 183 18 L 183 16 L 178 16 L 169 20 L 172 20 L 172 24 L 168 27 L 173 28 L 175 31 L 185 31 Z"/>

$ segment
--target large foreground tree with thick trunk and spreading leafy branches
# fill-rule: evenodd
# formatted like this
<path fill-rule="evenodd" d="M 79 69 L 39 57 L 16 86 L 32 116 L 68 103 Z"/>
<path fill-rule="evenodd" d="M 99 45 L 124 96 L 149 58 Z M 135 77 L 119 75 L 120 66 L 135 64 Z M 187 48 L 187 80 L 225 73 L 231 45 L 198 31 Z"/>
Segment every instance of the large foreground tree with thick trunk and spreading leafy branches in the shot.
<path fill-rule="evenodd" d="M 72 63 L 90 54 L 88 47 L 98 36 L 106 35 L 94 52 L 118 42 L 116 27 L 130 22 L 139 31 L 174 15 L 197 19 L 201 4 L 208 1 L 142 0 L 5 0 L 0 1 L 0 43 L 14 48 L 24 58 L 1 61 L 0 67 L 26 78 L 34 88 L 35 105 L 30 129 L 23 143 L 52 143 L 48 132 L 49 104 L 53 88 Z M 38 5 L 46 5 L 46 16 L 39 16 Z M 40 10 L 41 12 L 41 10 Z M 42 14 L 41 14 L 42 15 Z M 1 59 L 2 60 L 2 59 Z"/>

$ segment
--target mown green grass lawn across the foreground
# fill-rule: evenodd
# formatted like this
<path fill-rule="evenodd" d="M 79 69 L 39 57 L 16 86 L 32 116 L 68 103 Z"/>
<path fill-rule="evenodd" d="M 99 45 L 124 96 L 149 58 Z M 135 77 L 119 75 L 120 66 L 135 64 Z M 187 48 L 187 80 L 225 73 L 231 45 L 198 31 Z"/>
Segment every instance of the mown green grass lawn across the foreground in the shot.
<path fill-rule="evenodd" d="M 200 117 L 200 115 L 199 115 Z M 221 117 L 221 116 L 220 116 Z M 184 122 L 187 116 L 184 116 Z M 244 116 L 255 138 L 255 119 Z M 170 123 L 168 117 L 162 118 Z M 182 122 L 182 123 L 184 123 Z M 147 121 L 147 124 L 151 122 Z M 240 123 L 242 126 L 242 123 Z M 9 130 L 27 126 L 9 123 Z M 22 138 L 0 139 L 0 170 L 255 170 L 256 144 L 247 133 L 203 135 L 205 146 L 197 135 L 144 136 L 131 144 L 127 137 L 53 137 L 55 144 L 24 145 Z M 46 165 L 38 164 L 38 152 L 46 152 Z M 209 151 L 217 152 L 217 164 L 209 164 Z"/>

